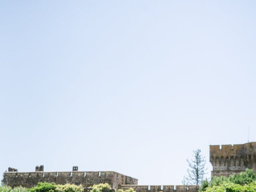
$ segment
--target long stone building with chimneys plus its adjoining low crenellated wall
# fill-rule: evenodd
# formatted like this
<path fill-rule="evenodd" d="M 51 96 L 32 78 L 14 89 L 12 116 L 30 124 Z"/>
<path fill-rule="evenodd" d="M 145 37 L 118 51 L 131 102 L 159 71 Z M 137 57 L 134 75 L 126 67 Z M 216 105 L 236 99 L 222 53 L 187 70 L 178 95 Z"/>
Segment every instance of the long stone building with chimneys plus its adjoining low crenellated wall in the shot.
<path fill-rule="evenodd" d="M 41 169 L 40 169 L 41 167 Z M 134 188 L 136 192 L 198 192 L 198 186 L 148 186 L 138 185 L 138 179 L 111 171 L 79 172 L 74 166 L 72 172 L 43 172 L 43 166 L 36 166 L 36 172 L 18 172 L 17 169 L 8 169 L 4 173 L 3 184 L 11 187 L 23 186 L 31 188 L 38 182 L 53 182 L 55 184 L 76 184 L 84 186 L 85 192 L 90 191 L 93 184 L 108 183 L 113 189 Z M 113 191 L 114 192 L 114 191 Z"/>

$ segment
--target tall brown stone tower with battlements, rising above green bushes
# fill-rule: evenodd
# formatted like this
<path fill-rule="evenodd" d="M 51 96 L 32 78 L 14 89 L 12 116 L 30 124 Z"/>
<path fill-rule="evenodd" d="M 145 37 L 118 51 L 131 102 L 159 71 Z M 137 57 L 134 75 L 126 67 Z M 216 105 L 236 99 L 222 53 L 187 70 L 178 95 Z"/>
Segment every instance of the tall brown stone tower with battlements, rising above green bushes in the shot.
<path fill-rule="evenodd" d="M 238 174 L 246 168 L 256 172 L 256 142 L 239 145 L 211 145 L 212 176 Z"/>

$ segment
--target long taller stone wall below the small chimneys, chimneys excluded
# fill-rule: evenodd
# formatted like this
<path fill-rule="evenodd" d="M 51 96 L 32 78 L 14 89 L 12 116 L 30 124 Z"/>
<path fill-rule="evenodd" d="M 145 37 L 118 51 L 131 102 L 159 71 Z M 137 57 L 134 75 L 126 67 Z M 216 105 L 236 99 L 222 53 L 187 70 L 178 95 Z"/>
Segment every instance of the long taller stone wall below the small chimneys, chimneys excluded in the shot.
<path fill-rule="evenodd" d="M 33 187 L 38 182 L 56 184 L 82 184 L 84 187 L 93 184 L 108 183 L 112 188 L 124 184 L 138 184 L 138 180 L 117 172 L 5 172 L 3 184 L 7 186 Z"/>

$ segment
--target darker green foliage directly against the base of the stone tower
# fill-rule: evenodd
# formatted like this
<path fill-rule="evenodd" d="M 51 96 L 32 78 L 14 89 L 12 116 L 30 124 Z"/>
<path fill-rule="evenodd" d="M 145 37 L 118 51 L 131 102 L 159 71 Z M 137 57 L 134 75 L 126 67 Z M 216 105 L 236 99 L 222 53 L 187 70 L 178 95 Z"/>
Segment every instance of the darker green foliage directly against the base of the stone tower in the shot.
<path fill-rule="evenodd" d="M 246 185 L 256 181 L 256 174 L 252 169 L 246 169 L 246 171 L 241 172 L 240 174 L 233 174 L 229 177 L 212 177 L 210 181 L 204 180 L 200 186 L 199 192 L 206 191 L 206 188 L 214 186 L 222 186 L 224 183 L 233 183 L 239 185 Z"/>

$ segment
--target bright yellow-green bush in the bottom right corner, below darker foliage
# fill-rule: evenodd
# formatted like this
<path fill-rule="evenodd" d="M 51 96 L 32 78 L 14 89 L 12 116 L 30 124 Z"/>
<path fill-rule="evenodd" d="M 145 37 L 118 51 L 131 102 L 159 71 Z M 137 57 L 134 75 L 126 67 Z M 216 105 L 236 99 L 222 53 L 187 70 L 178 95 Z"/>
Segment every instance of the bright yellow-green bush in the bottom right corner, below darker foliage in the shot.
<path fill-rule="evenodd" d="M 218 186 L 206 188 L 206 192 L 256 192 L 256 182 L 251 182 L 246 185 L 224 182 Z"/>

